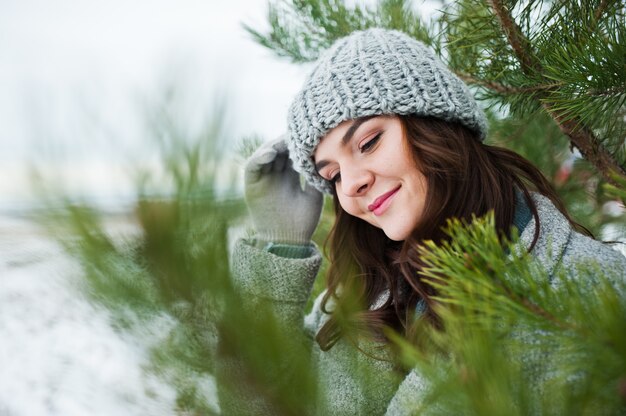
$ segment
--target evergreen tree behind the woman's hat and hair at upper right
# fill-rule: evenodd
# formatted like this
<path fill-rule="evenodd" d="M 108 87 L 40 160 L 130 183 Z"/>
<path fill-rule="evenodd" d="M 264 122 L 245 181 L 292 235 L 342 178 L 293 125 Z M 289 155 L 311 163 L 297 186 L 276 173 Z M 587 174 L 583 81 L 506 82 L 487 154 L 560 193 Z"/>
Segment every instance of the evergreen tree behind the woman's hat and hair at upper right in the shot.
<path fill-rule="evenodd" d="M 406 32 L 474 88 L 491 116 L 489 140 L 537 164 L 588 228 L 613 221 L 601 214 L 600 185 L 626 173 L 622 1 L 442 1 L 428 17 L 410 0 L 345 3 L 276 0 L 269 32 L 245 28 L 297 63 L 354 30 Z"/>

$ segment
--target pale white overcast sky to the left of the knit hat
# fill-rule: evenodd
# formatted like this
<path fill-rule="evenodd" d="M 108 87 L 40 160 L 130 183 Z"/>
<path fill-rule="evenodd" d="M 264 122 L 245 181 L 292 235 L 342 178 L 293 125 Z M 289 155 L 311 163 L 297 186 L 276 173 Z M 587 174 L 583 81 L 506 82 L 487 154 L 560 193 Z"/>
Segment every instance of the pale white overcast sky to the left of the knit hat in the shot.
<path fill-rule="evenodd" d="M 130 191 L 124 167 L 147 153 L 140 103 L 167 82 L 185 93 L 181 120 L 190 125 L 222 95 L 234 141 L 279 135 L 306 67 L 242 29 L 265 28 L 266 8 L 263 0 L 0 0 L 0 207 L 29 198 L 30 162 L 54 166 L 70 188 Z"/>

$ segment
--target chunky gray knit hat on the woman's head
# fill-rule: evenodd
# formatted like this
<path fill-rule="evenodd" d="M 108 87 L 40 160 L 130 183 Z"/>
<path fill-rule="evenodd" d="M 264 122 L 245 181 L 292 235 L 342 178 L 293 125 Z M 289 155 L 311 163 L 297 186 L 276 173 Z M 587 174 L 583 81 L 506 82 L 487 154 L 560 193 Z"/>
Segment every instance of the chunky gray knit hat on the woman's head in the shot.
<path fill-rule="evenodd" d="M 345 120 L 415 114 L 459 122 L 487 134 L 467 86 L 421 42 L 395 30 L 368 29 L 337 40 L 317 60 L 289 108 L 287 144 L 294 168 L 322 192 L 313 152 Z"/>

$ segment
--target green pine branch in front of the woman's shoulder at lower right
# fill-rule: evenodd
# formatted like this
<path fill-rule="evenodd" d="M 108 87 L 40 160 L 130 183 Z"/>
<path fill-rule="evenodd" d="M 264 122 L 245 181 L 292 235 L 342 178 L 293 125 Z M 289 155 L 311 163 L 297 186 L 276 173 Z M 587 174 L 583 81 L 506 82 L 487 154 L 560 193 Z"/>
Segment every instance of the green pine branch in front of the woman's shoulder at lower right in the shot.
<path fill-rule="evenodd" d="M 448 242 L 419 249 L 444 329 L 420 327 L 418 348 L 391 337 L 407 365 L 432 386 L 416 395 L 413 409 L 621 414 L 623 283 L 593 261 L 580 264 L 576 278 L 559 273 L 551 280 L 516 243 L 500 246 L 493 224 L 492 214 L 471 223 L 453 220 L 445 229 Z"/>

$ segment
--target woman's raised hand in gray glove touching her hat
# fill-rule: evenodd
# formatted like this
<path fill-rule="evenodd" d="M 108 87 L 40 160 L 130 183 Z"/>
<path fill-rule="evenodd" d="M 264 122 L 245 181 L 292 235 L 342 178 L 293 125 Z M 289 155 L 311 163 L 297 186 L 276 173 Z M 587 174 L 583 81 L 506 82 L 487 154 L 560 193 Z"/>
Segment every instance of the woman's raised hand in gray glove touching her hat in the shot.
<path fill-rule="evenodd" d="M 263 144 L 246 162 L 245 196 L 260 240 L 308 244 L 320 219 L 321 192 L 293 170 L 282 137 Z"/>

